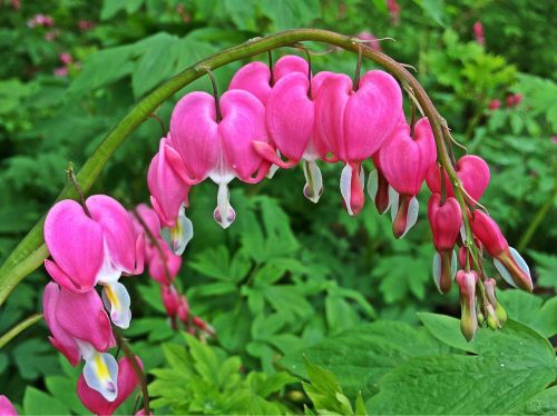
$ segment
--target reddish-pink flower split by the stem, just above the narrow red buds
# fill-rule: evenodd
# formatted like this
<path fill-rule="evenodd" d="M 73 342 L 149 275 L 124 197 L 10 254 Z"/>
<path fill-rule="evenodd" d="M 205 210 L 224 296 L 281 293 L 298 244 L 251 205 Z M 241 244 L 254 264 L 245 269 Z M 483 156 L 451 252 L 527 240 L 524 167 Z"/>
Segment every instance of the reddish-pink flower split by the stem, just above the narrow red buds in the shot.
<path fill-rule="evenodd" d="M 447 196 L 453 197 L 455 191 L 452 190 L 449 176 L 446 171 L 443 171 L 443 175 Z M 479 201 L 489 185 L 490 174 L 488 164 L 475 155 L 462 156 L 457 162 L 457 176 L 462 181 L 462 186 L 468 195 L 476 201 Z M 439 167 L 437 165 L 432 165 L 429 168 L 426 182 L 432 194 L 441 194 L 441 180 L 439 179 Z"/>

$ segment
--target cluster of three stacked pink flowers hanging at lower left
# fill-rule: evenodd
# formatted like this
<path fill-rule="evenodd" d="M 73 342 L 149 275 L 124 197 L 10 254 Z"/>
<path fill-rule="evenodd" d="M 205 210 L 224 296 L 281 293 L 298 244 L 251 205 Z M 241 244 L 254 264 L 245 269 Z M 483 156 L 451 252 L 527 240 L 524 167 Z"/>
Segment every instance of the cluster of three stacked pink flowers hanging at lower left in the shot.
<path fill-rule="evenodd" d="M 116 346 L 111 324 L 129 326 L 130 298 L 119 279 L 143 273 L 144 235 L 126 209 L 105 195 L 90 196 L 82 206 L 59 201 L 43 231 L 51 256 L 45 267 L 53 279 L 42 297 L 50 341 L 71 365 L 85 360 L 78 395 L 92 412 L 109 414 L 138 384 L 126 369 L 129 363 L 117 363 L 107 351 Z"/>

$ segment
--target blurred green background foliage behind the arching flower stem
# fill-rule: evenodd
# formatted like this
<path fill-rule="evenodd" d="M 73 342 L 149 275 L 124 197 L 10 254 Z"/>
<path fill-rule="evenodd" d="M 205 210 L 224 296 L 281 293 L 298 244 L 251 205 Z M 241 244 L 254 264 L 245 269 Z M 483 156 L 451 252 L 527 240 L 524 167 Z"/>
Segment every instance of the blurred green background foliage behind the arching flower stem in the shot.
<path fill-rule="evenodd" d="M 525 252 L 537 287 L 535 296 L 501 295 L 508 300 L 504 305 L 511 318 L 550 337 L 557 329 L 555 4 L 398 3 L 400 17 L 393 21 L 382 0 L 0 0 L 0 257 L 52 204 L 65 184 L 68 161 L 81 166 L 137 100 L 182 69 L 224 48 L 290 28 L 352 36 L 369 31 L 395 40 L 381 41 L 382 50 L 416 68 L 453 136 L 490 164 L 492 179 L 482 201 L 509 242 Z M 37 14 L 52 21 L 38 23 Z M 476 21 L 483 26 L 485 46 L 475 40 Z M 322 44 L 307 47 L 330 52 L 313 57 L 314 71 L 353 72 L 353 55 Z M 275 58 L 284 53 L 300 51 L 284 48 Z M 242 63 L 215 71 L 221 91 Z M 364 68 L 373 66 L 365 62 Z M 205 78 L 194 82 L 157 115 L 167 122 L 183 93 L 208 88 Z M 515 95 L 521 101 L 507 102 Z M 146 120 L 91 192 L 111 195 L 129 207 L 147 201 L 146 170 L 160 136 L 160 126 Z M 459 314 L 457 289 L 442 297 L 431 281 L 428 192 L 420 198 L 418 225 L 398 241 L 390 219 L 379 216 L 370 200 L 361 215 L 350 218 L 338 191 L 340 167 L 323 170 L 325 192 L 315 206 L 302 196 L 301 169 L 280 171 L 256 186 L 235 181 L 232 201 L 237 219 L 227 231 L 212 218 L 216 187 L 203 184 L 192 190 L 196 238 L 184 255 L 177 285 L 194 313 L 215 327 L 213 347 L 192 337 L 184 340 L 169 328 L 158 288 L 147 276 L 127 280 L 134 320 L 126 336 L 145 368 L 153 370 L 152 394 L 163 412 L 302 412 L 306 404 L 346 414 L 362 390 L 353 372 L 344 374 L 341 368 L 332 375 L 307 364 L 311 384 L 304 385 L 304 395 L 296 378 L 284 372 L 304 377 L 292 364 L 304 366 L 294 351 L 309 348 L 310 359 L 334 368 L 331 357 L 340 354 L 345 359 L 346 354 L 335 348 L 355 343 L 344 334 L 384 345 L 375 351 L 377 365 L 384 368 L 367 376 L 363 399 L 378 392 L 379 378 L 402 357 L 448 351 L 417 326 L 417 311 Z M 46 273 L 37 270 L 18 286 L 0 310 L 0 333 L 40 310 L 46 281 Z M 367 330 L 381 331 L 391 320 L 397 323 L 387 327 L 400 339 L 392 339 L 393 334 L 365 338 Z M 413 343 L 416 350 L 409 345 Z M 407 376 L 403 368 L 397 372 Z M 0 350 L 1 393 L 26 413 L 82 413 L 68 393 L 76 377 L 49 345 L 42 324 Z M 350 400 L 322 400 L 320 388 L 331 386 L 340 388 L 335 397 L 346 398 L 334 377 Z M 388 392 L 387 383 L 368 400 L 368 408 L 384 410 Z M 130 412 L 133 403 L 126 406 L 121 412 Z"/>

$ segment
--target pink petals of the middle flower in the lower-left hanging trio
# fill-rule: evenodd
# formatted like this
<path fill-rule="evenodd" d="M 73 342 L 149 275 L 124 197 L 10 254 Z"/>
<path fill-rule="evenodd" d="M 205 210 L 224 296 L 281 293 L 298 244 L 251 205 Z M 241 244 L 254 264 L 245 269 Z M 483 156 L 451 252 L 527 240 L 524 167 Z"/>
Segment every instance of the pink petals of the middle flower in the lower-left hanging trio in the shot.
<path fill-rule="evenodd" d="M 55 317 L 69 335 L 91 344 L 98 351 L 104 353 L 116 344 L 102 300 L 95 290 L 71 294 L 61 289 Z"/>

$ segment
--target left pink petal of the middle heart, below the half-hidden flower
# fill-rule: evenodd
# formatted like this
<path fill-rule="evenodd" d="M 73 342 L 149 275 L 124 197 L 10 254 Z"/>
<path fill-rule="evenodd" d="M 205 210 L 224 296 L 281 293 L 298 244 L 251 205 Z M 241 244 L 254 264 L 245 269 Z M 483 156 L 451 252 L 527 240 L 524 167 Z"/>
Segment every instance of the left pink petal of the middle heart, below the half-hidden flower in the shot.
<path fill-rule="evenodd" d="M 290 73 L 273 88 L 266 105 L 266 120 L 273 142 L 285 157 L 300 160 L 313 136 L 313 101 L 310 82 L 302 73 Z"/>

